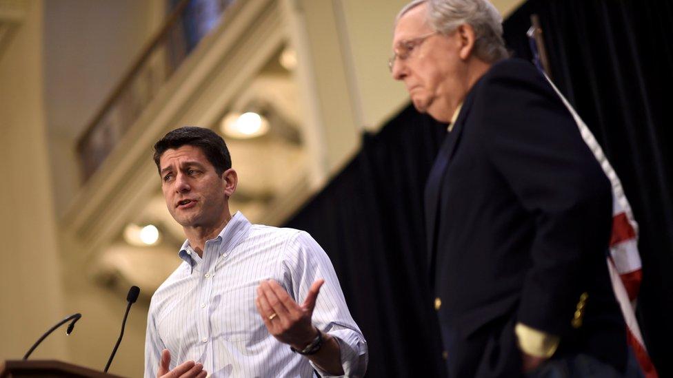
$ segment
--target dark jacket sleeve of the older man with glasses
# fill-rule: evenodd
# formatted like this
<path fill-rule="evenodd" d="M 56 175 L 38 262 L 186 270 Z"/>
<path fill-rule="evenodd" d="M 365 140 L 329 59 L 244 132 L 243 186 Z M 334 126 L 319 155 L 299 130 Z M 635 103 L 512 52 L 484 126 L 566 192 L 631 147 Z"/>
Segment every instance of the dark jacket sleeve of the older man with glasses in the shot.
<path fill-rule="evenodd" d="M 480 140 L 535 223 L 517 321 L 563 336 L 587 282 L 596 269 L 606 269 L 610 183 L 572 116 L 530 63 L 495 65 L 482 81 L 474 105 Z"/>

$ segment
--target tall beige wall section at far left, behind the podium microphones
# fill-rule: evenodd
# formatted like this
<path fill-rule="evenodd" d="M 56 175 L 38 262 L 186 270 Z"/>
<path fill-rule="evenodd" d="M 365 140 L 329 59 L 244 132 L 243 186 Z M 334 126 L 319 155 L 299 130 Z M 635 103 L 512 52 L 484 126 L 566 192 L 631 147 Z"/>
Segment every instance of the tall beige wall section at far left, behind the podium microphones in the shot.
<path fill-rule="evenodd" d="M 0 56 L 1 359 L 20 359 L 41 333 L 74 312 L 63 305 L 60 280 L 42 96 L 42 9 L 42 1 L 27 2 L 26 19 Z M 34 357 L 66 359 L 70 340 L 61 330 Z"/>

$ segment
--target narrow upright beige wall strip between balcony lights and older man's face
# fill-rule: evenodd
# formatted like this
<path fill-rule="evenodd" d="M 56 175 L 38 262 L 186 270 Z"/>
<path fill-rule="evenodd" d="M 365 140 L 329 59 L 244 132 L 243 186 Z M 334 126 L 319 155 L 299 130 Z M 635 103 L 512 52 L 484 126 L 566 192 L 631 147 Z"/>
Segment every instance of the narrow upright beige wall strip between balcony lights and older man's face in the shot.
<path fill-rule="evenodd" d="M 292 44 L 299 56 L 298 76 L 305 79 L 304 101 L 314 114 L 312 156 L 333 174 L 359 147 L 358 103 L 352 96 L 348 62 L 343 59 L 341 20 L 334 1 L 290 0 Z"/>

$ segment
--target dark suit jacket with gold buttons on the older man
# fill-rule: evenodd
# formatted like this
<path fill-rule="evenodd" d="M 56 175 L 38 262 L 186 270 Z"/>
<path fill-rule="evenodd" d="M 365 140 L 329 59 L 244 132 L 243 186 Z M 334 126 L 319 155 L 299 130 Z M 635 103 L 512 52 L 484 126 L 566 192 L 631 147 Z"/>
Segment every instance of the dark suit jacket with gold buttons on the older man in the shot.
<path fill-rule="evenodd" d="M 610 182 L 532 64 L 501 61 L 472 87 L 428 178 L 425 214 L 452 377 L 520 374 L 516 322 L 559 335 L 556 356 L 624 369 L 605 262 Z"/>

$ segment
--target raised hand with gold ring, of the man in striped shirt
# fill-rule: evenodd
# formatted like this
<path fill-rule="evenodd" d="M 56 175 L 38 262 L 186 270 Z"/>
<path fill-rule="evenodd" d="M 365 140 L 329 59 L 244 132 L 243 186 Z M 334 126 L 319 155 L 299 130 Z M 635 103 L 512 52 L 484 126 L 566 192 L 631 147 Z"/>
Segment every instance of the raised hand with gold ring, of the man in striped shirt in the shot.
<path fill-rule="evenodd" d="M 310 344 L 319 332 L 313 326 L 311 317 L 320 286 L 324 283 L 325 280 L 313 282 L 306 300 L 299 306 L 277 282 L 262 281 L 257 288 L 255 304 L 269 333 L 279 342 L 298 350 Z"/>

